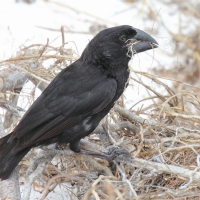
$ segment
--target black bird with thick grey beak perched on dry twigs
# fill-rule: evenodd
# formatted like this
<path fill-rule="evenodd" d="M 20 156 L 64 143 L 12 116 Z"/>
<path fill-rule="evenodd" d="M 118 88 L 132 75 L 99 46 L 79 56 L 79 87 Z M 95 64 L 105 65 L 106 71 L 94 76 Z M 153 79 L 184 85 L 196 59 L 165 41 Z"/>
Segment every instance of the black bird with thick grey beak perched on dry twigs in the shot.
<path fill-rule="evenodd" d="M 35 146 L 70 143 L 72 151 L 87 153 L 80 149 L 80 139 L 98 126 L 123 93 L 131 56 L 157 46 L 150 35 L 127 25 L 98 33 L 81 57 L 54 78 L 13 132 L 0 139 L 0 179 L 7 179 Z"/>

